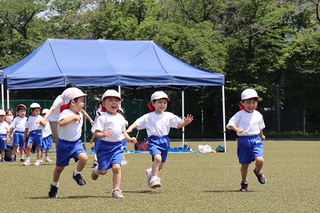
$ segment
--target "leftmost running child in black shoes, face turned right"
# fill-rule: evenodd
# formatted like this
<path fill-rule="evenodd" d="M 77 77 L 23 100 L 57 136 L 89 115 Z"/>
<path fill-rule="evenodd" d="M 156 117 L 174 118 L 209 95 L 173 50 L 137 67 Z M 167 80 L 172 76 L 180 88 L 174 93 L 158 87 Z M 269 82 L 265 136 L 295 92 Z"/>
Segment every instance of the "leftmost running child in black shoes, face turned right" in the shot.
<path fill-rule="evenodd" d="M 58 142 L 57 142 L 57 161 L 53 171 L 53 180 L 50 185 L 48 197 L 57 197 L 60 175 L 69 165 L 70 158 L 78 162 L 77 168 L 73 172 L 73 180 L 79 186 L 85 186 L 87 183 L 82 178 L 82 170 L 87 163 L 87 153 L 80 140 L 83 124 L 82 108 L 85 107 L 85 97 L 80 89 L 70 87 L 65 89 L 61 98 L 63 105 L 60 107 L 60 116 L 58 119 Z"/>

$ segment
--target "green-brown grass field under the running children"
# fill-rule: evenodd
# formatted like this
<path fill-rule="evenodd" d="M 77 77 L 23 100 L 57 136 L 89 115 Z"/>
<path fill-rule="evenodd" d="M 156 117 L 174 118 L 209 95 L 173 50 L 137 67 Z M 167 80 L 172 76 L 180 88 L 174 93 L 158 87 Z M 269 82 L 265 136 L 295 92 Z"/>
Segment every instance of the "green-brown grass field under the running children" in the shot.
<path fill-rule="evenodd" d="M 171 143 L 178 147 L 181 142 Z M 216 148 L 223 142 L 190 142 Z M 87 143 L 87 148 L 92 145 Z M 162 187 L 146 185 L 151 156 L 126 154 L 122 167 L 123 200 L 111 198 L 112 172 L 91 180 L 93 155 L 82 172 L 87 185 L 78 187 L 71 179 L 75 163 L 60 178 L 58 197 L 48 199 L 55 168 L 53 163 L 34 166 L 0 164 L 1 212 L 320 212 L 320 141 L 265 141 L 267 183 L 260 185 L 250 165 L 248 192 L 240 188 L 240 164 L 236 141 L 227 142 L 228 153 L 169 153 L 159 172 Z M 133 150 L 133 145 L 128 148 Z M 17 156 L 19 158 L 19 156 Z"/>

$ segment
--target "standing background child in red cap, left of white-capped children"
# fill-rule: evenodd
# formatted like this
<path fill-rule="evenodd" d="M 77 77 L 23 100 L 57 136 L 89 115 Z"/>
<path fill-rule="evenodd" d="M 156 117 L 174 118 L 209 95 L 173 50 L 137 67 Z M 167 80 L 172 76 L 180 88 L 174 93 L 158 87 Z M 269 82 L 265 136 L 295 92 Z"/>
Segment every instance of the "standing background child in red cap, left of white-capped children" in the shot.
<path fill-rule="evenodd" d="M 14 133 L 14 149 L 11 153 L 11 162 L 14 163 L 14 155 L 16 154 L 16 150 L 19 148 L 20 150 L 20 162 L 24 163 L 24 155 L 23 155 L 23 147 L 24 147 L 24 131 L 26 129 L 26 121 L 28 118 L 26 117 L 26 106 L 23 104 L 18 104 L 16 107 L 16 117 L 11 124 L 10 135 Z"/>

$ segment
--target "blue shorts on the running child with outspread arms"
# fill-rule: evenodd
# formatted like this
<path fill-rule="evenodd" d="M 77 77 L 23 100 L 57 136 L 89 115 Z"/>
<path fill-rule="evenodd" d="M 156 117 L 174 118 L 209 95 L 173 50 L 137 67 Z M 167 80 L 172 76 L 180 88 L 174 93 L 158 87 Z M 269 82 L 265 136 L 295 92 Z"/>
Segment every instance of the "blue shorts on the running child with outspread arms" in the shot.
<path fill-rule="evenodd" d="M 147 138 L 149 153 L 154 161 L 154 155 L 161 155 L 161 163 L 166 162 L 168 149 L 170 148 L 170 140 L 168 136 L 151 136 Z"/>

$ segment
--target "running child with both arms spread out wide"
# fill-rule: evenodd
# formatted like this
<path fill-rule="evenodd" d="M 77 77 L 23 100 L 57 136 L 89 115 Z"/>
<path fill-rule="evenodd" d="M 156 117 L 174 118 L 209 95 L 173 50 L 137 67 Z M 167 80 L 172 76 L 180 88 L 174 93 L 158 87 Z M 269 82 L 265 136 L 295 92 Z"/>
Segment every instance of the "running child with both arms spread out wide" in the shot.
<path fill-rule="evenodd" d="M 179 129 L 193 121 L 191 114 L 188 114 L 182 120 L 171 112 L 166 111 L 168 102 L 170 102 L 170 99 L 166 93 L 162 91 L 154 92 L 151 95 L 151 102 L 148 104 L 151 112 L 134 121 L 134 124 L 127 129 L 128 133 L 135 128 L 138 130 L 146 129 L 148 133 L 148 148 L 153 161 L 152 168 L 146 169 L 147 184 L 150 188 L 161 187 L 161 179 L 158 178 L 158 172 L 164 167 L 168 155 L 170 128 Z"/>

